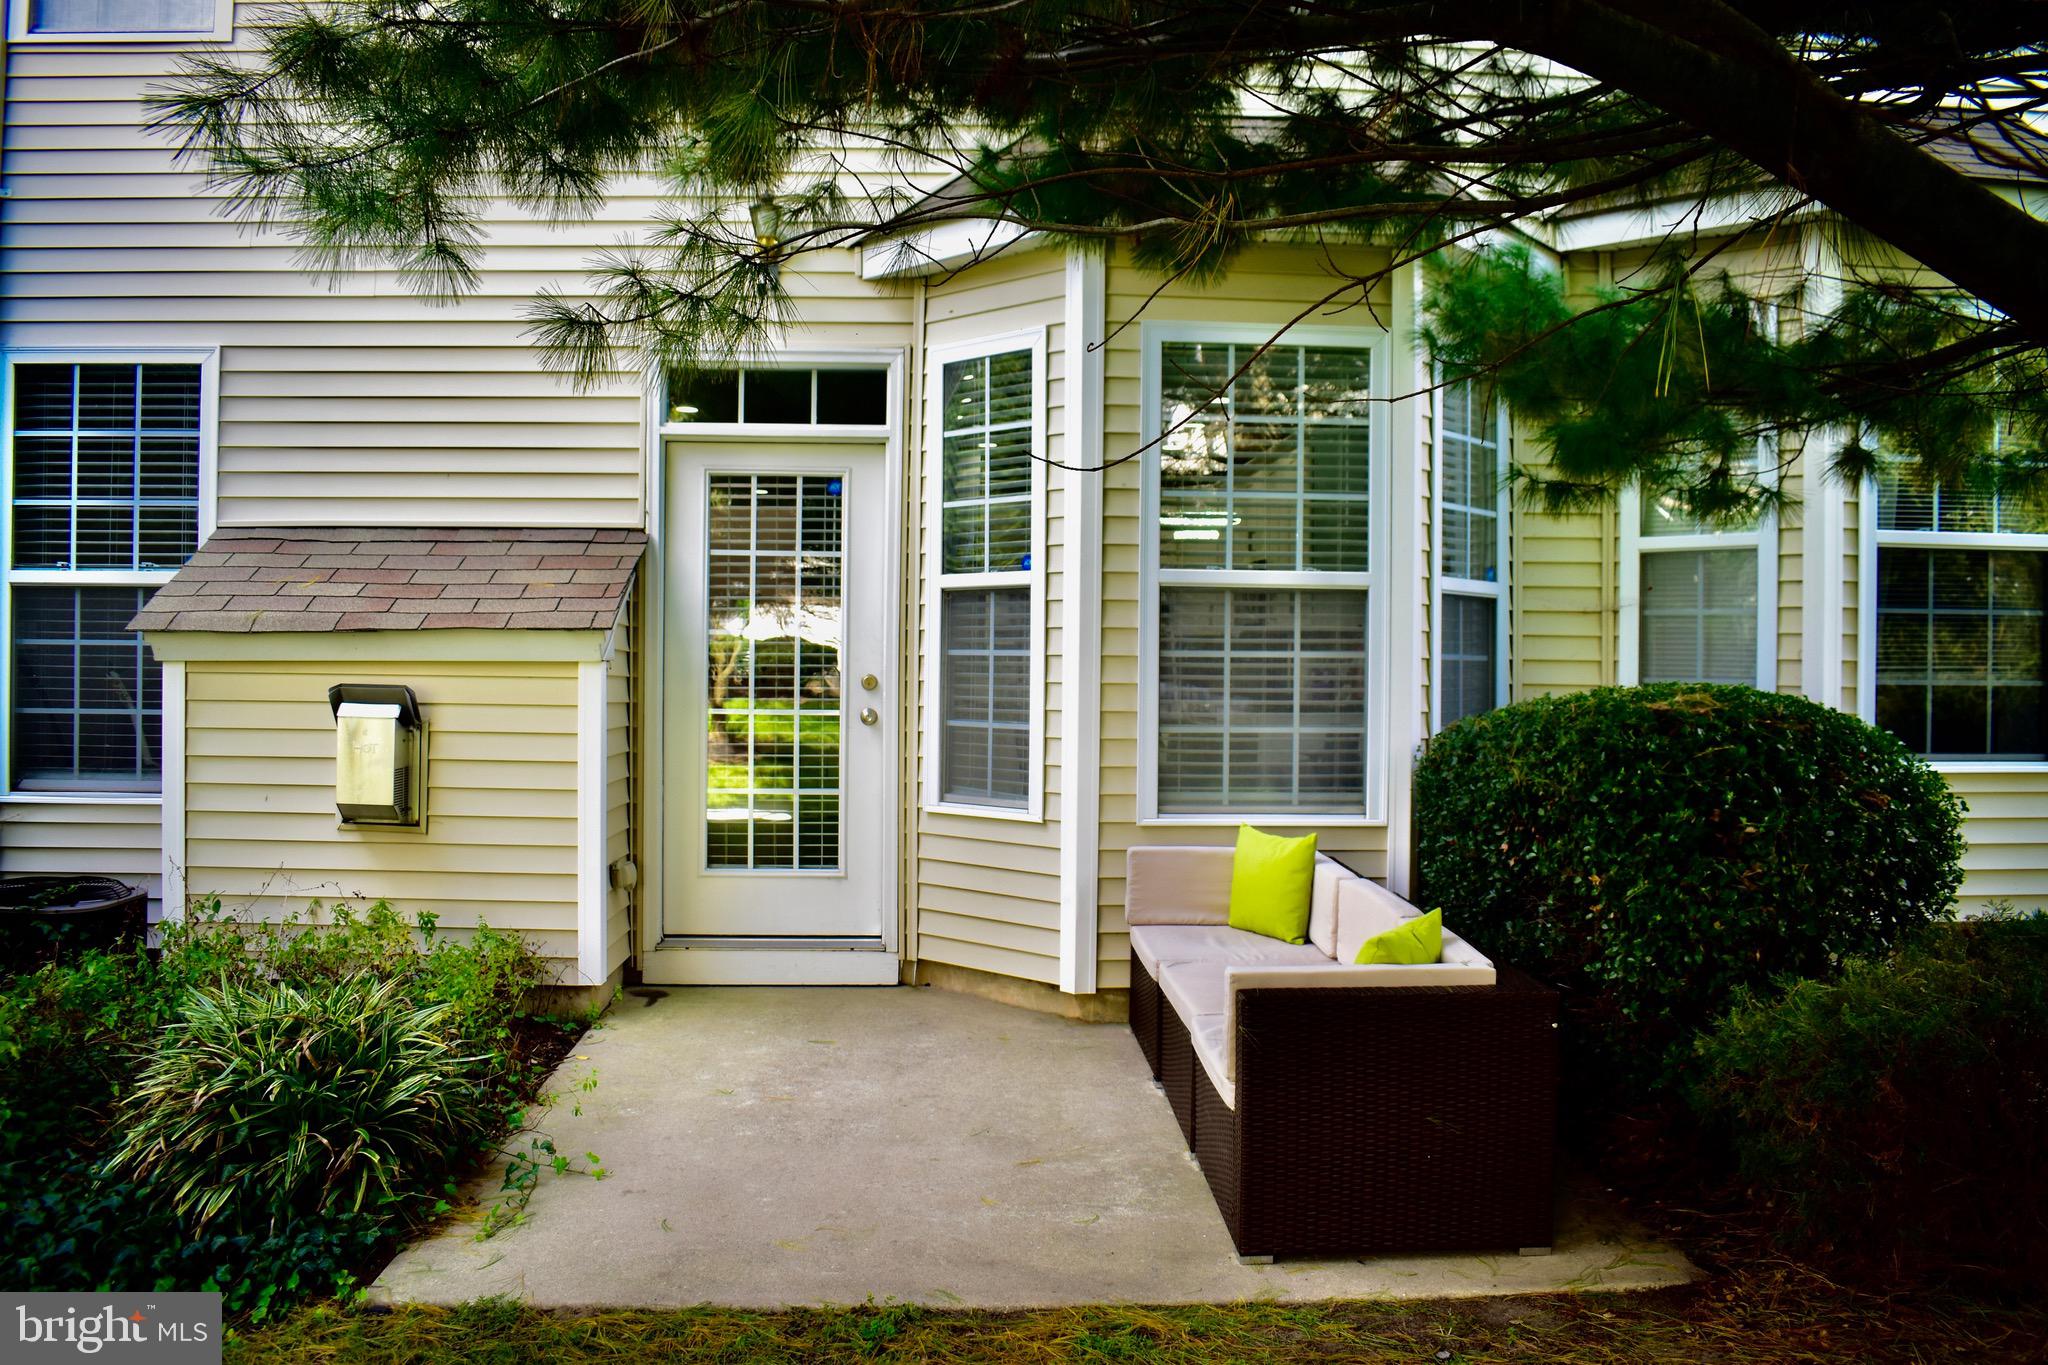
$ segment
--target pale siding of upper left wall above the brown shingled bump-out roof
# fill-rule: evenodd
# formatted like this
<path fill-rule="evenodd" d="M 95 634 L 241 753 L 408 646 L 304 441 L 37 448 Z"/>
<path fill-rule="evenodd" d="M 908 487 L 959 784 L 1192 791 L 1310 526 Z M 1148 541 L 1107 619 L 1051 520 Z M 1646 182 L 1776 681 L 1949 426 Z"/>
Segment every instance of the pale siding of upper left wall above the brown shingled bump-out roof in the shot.
<path fill-rule="evenodd" d="M 637 387 L 543 375 L 520 315 L 645 221 L 647 196 L 571 227 L 494 209 L 479 289 L 455 307 L 389 270 L 317 280 L 143 131 L 141 90 L 174 55 L 8 49 L 6 344 L 219 346 L 223 526 L 637 526 Z"/>

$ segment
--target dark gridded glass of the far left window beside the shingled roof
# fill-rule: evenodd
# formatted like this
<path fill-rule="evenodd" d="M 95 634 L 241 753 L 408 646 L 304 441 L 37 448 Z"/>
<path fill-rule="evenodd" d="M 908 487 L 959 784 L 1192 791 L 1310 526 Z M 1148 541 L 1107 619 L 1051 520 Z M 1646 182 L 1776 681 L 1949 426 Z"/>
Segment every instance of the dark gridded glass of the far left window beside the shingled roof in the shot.
<path fill-rule="evenodd" d="M 8 381 L 8 786 L 152 790 L 162 671 L 127 622 L 199 544 L 203 368 L 14 362 Z"/>

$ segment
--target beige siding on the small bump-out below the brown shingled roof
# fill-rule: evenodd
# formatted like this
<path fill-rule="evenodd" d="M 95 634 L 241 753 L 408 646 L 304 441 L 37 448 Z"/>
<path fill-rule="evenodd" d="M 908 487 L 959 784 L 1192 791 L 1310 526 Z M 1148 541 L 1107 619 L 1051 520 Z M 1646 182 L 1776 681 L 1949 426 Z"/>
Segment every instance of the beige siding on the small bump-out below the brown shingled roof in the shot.
<path fill-rule="evenodd" d="M 307 900 L 391 900 L 444 929 L 520 929 L 575 966 L 575 665 L 190 661 L 190 894 L 274 919 Z M 426 833 L 334 817 L 338 681 L 403 681 L 428 724 Z"/>

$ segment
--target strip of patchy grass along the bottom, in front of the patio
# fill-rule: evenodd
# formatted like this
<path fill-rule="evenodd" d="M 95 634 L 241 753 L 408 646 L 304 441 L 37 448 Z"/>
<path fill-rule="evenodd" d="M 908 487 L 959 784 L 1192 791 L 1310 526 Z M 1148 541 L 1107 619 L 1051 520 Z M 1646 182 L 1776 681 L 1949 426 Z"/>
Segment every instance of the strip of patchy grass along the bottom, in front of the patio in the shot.
<path fill-rule="evenodd" d="M 555 1314 L 506 1300 L 393 1312 L 307 1308 L 236 1336 L 227 1361 L 2038 1361 L 2048 1310 L 1880 1297 L 1786 1265 L 1655 1293 L 954 1312 L 903 1304 Z"/>

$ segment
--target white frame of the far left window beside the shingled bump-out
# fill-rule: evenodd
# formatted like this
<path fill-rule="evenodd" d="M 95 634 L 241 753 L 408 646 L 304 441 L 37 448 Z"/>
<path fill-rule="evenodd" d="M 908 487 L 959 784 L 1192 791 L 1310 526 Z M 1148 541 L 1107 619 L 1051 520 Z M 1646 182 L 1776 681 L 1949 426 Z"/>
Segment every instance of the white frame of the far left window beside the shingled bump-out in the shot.
<path fill-rule="evenodd" d="M 35 348 L 20 346 L 0 352 L 0 802 L 84 806 L 84 804 L 162 804 L 164 794 L 111 788 L 104 792 L 16 792 L 14 763 L 8 739 L 14 731 L 14 589 L 16 587 L 160 587 L 176 569 L 14 569 L 14 366 L 18 364 L 197 364 L 199 366 L 199 540 L 205 544 L 215 530 L 219 512 L 219 479 L 215 444 L 221 405 L 219 348 Z M 158 667 L 164 667 L 162 663 Z M 168 681 L 168 679 L 166 679 Z M 162 690 L 164 731 L 172 731 L 172 690 Z M 168 743 L 166 743 L 168 753 Z M 166 769 L 166 784 L 170 782 Z"/>

